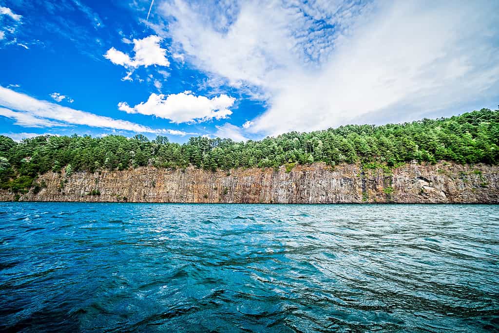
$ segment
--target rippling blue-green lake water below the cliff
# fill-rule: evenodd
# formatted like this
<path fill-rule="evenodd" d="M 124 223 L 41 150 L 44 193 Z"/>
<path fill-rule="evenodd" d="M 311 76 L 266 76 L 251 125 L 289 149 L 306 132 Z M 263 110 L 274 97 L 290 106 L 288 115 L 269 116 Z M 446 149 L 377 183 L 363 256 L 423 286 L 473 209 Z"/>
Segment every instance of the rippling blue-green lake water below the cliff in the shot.
<path fill-rule="evenodd" d="M 0 331 L 490 332 L 499 206 L 0 203 Z"/>

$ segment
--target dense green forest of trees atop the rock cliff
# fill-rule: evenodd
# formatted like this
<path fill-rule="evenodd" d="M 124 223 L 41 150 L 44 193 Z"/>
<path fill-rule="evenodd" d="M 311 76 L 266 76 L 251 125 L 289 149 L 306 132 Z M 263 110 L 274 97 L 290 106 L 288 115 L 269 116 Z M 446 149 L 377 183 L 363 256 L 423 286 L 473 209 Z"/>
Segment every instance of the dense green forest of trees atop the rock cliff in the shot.
<path fill-rule="evenodd" d="M 138 166 L 207 170 L 324 162 L 393 167 L 405 162 L 499 162 L 499 108 L 404 124 L 346 125 L 310 133 L 290 132 L 260 141 L 192 137 L 185 144 L 158 136 L 150 141 L 109 135 L 39 136 L 19 143 L 0 136 L 0 187 L 24 191 L 39 174 L 66 174 Z"/>

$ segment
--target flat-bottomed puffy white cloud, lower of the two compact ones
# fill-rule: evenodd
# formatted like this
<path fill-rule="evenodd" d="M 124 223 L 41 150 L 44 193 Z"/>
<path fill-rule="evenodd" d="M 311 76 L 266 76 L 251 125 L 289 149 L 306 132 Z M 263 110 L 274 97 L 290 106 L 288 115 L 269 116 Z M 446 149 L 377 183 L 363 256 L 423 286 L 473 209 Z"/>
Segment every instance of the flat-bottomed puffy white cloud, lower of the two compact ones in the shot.
<path fill-rule="evenodd" d="M 232 114 L 229 110 L 236 99 L 225 94 L 208 98 L 196 96 L 191 91 L 179 94 L 163 95 L 152 93 L 146 102 L 134 107 L 120 102 L 118 109 L 126 113 L 154 115 L 170 119 L 173 123 L 193 123 L 216 119 L 225 119 Z"/>

